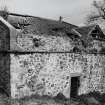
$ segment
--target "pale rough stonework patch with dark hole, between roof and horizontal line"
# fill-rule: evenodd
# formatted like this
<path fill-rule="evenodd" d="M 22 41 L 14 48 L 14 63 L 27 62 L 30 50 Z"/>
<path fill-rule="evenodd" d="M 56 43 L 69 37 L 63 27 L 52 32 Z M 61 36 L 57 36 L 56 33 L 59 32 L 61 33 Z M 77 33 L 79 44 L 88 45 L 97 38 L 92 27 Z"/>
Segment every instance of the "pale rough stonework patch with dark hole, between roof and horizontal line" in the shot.
<path fill-rule="evenodd" d="M 63 33 L 62 33 L 63 35 Z M 23 51 L 71 51 L 74 47 L 73 41 L 63 36 L 51 35 L 30 35 L 22 34 L 17 36 L 17 46 Z"/>

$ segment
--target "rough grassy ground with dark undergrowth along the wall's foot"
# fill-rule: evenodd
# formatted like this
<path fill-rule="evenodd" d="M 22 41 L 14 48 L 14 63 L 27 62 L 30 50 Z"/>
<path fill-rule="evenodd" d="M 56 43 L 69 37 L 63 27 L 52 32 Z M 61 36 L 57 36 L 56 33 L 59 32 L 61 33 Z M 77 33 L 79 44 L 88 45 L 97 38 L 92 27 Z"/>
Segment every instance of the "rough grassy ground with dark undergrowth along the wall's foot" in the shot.
<path fill-rule="evenodd" d="M 49 96 L 28 96 L 22 99 L 10 99 L 5 95 L 0 95 L 0 105 L 105 105 L 104 99 L 105 97 L 98 98 L 99 95 L 93 97 L 92 95 L 81 95 L 76 98 L 66 99 L 62 95 L 58 95 L 56 97 Z"/>

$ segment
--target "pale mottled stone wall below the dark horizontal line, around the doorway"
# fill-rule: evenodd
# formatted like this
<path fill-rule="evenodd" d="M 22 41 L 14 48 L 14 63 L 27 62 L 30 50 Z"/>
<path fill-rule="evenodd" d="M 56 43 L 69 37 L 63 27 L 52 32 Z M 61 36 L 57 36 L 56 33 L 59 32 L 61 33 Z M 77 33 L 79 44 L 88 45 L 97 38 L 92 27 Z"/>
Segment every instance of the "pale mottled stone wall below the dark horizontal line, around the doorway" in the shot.
<path fill-rule="evenodd" d="M 70 97 L 70 77 L 80 73 L 78 94 L 105 92 L 105 56 L 71 53 L 11 54 L 11 96 Z"/>

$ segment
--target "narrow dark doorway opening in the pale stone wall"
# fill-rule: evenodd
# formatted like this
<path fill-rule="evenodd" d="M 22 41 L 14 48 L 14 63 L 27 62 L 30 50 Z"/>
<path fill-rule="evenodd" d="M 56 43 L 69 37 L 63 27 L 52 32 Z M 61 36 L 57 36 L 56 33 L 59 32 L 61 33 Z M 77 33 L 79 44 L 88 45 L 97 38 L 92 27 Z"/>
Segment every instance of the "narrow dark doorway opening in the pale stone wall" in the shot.
<path fill-rule="evenodd" d="M 78 88 L 80 86 L 80 76 L 71 77 L 71 92 L 70 96 L 75 98 L 78 95 Z"/>

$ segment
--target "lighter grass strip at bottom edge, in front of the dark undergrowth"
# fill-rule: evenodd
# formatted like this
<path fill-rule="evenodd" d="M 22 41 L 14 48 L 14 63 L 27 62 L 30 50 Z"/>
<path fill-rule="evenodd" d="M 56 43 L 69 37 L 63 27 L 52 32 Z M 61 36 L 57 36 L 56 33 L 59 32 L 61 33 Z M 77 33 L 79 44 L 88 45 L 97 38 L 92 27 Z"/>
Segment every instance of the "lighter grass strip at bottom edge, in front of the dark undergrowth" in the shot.
<path fill-rule="evenodd" d="M 48 96 L 30 96 L 23 99 L 10 99 L 4 96 L 0 97 L 0 105 L 79 105 L 79 102 L 69 99 L 56 99 Z M 84 105 L 84 104 L 80 104 Z"/>

